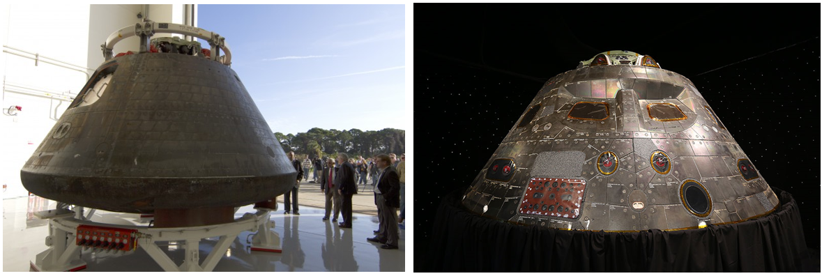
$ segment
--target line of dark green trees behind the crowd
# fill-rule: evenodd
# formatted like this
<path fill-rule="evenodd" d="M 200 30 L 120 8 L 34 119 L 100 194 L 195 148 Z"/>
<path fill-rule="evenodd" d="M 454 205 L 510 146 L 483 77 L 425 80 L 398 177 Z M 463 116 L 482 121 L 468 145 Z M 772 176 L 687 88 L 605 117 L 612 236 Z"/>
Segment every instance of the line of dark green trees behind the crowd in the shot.
<path fill-rule="evenodd" d="M 291 133 L 284 135 L 282 132 L 275 132 L 274 136 L 286 153 L 293 150 L 301 158 L 305 158 L 306 154 L 312 158 L 319 154 L 336 157 L 340 152 L 349 154 L 351 158 L 357 155 L 368 158 L 375 154 L 390 153 L 399 157 L 399 154 L 405 152 L 405 131 L 395 128 L 381 131 L 360 131 L 356 128 L 338 131 L 314 127 L 307 132 L 299 132 L 296 136 Z"/>

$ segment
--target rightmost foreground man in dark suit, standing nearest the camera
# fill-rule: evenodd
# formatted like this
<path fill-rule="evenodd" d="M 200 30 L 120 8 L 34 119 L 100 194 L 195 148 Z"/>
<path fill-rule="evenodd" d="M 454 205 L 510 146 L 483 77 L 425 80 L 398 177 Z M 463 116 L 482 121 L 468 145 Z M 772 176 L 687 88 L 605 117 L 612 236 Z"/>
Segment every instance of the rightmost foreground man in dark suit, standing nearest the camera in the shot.
<path fill-rule="evenodd" d="M 367 238 L 368 242 L 385 243 L 383 249 L 399 248 L 399 227 L 397 226 L 397 208 L 399 208 L 399 174 L 391 159 L 386 154 L 376 155 L 376 166 L 382 170 L 380 180 L 376 182 L 374 200 L 380 219 L 380 231 L 376 237 Z"/>

